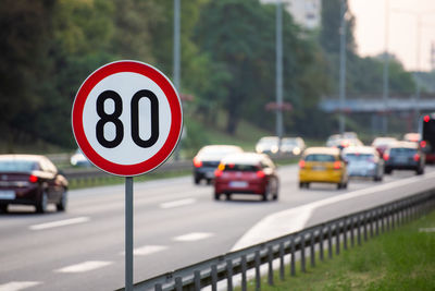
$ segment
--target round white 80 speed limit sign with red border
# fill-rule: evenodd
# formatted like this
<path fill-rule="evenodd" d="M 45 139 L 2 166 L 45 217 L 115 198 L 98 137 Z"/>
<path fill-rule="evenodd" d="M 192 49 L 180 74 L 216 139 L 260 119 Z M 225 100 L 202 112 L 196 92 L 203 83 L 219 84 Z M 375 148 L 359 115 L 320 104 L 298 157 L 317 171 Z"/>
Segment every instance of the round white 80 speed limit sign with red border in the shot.
<path fill-rule="evenodd" d="M 72 111 L 74 137 L 98 168 L 116 175 L 149 172 L 172 154 L 183 128 L 179 96 L 156 68 L 116 61 L 82 84 Z"/>

